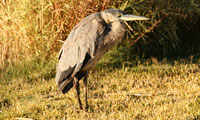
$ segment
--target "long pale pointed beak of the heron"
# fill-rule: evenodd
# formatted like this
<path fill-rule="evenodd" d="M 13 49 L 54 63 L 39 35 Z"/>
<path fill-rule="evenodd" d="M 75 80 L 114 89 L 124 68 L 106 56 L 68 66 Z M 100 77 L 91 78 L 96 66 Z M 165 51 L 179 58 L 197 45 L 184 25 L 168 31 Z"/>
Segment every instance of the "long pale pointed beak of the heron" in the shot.
<path fill-rule="evenodd" d="M 143 17 L 143 16 L 136 16 L 136 15 L 123 15 L 120 17 L 121 20 L 123 21 L 134 21 L 134 20 L 149 20 L 149 18 L 147 17 Z"/>

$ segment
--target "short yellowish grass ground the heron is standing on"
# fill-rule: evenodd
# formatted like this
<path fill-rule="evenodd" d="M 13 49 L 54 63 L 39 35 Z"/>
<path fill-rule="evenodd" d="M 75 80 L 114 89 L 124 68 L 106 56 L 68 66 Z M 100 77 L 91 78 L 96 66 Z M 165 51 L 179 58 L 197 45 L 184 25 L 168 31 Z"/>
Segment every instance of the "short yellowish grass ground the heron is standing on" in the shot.
<path fill-rule="evenodd" d="M 79 110 L 74 89 L 58 92 L 54 63 L 4 71 L 10 79 L 0 81 L 0 119 L 200 120 L 199 62 L 100 65 L 89 77 L 88 112 Z"/>

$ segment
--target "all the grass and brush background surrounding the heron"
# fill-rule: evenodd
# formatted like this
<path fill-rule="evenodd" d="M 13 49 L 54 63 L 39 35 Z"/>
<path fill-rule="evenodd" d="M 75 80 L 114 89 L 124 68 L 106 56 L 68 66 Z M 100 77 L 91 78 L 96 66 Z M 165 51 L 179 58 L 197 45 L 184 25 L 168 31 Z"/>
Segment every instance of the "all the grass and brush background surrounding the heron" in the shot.
<path fill-rule="evenodd" d="M 58 94 L 57 52 L 82 18 L 109 8 L 151 18 L 89 78 L 89 112 Z M 199 0 L 2 0 L 0 119 L 200 119 Z"/>

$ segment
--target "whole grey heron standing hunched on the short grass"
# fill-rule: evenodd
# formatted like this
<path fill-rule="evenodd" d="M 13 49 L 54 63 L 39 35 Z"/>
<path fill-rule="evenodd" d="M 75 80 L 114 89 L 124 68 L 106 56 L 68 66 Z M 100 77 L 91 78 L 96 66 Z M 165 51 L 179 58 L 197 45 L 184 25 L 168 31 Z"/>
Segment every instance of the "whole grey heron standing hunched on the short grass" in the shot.
<path fill-rule="evenodd" d="M 81 20 L 64 42 L 56 73 L 56 83 L 63 94 L 76 88 L 79 107 L 79 80 L 84 77 L 85 109 L 87 102 L 87 78 L 99 59 L 124 38 L 124 21 L 148 20 L 146 17 L 129 15 L 118 9 L 109 9 L 91 14 Z"/>

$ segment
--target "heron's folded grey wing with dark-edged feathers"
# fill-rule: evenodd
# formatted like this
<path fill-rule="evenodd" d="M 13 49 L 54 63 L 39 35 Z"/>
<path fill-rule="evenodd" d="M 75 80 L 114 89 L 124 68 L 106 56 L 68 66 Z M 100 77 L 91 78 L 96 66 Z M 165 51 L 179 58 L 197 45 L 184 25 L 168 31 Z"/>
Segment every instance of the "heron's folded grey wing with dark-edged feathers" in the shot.
<path fill-rule="evenodd" d="M 89 60 L 85 61 L 86 55 L 94 57 L 104 30 L 105 23 L 99 13 L 86 17 L 74 27 L 60 51 L 56 74 L 58 85 L 74 77 L 83 66 L 83 62 Z"/>

